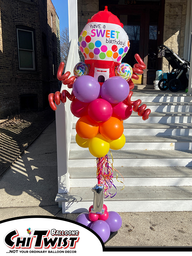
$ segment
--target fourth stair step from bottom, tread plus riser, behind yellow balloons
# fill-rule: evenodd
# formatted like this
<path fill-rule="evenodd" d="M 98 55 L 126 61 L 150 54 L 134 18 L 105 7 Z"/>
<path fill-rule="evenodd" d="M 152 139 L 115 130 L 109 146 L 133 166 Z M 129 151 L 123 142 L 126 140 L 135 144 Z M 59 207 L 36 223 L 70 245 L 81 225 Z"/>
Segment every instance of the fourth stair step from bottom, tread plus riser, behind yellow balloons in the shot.
<path fill-rule="evenodd" d="M 191 150 L 192 136 L 128 136 L 125 135 L 126 143 L 122 150 Z M 75 136 L 71 138 L 70 150 L 82 150 L 76 144 Z M 89 150 L 85 148 L 85 150 Z"/>

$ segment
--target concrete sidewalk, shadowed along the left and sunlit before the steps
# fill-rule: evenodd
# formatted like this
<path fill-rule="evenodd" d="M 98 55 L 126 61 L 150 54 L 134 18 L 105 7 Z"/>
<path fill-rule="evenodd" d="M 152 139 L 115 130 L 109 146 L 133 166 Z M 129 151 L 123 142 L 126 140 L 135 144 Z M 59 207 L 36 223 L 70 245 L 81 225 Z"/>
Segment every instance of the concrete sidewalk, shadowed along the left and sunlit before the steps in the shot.
<path fill-rule="evenodd" d="M 57 195 L 56 129 L 53 121 L 0 176 L 0 220 L 62 214 Z M 121 212 L 122 227 L 105 246 L 192 246 L 192 212 Z"/>

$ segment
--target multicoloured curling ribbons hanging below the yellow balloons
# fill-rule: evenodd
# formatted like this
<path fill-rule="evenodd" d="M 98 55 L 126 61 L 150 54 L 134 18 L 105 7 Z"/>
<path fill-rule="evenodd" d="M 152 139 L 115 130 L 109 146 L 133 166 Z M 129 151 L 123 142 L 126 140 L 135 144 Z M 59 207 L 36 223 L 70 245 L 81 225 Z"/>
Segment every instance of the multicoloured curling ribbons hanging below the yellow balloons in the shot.
<path fill-rule="evenodd" d="M 111 153 L 111 151 L 110 151 L 110 153 Z M 112 161 L 113 161 L 112 154 L 111 154 L 111 157 L 112 157 Z M 105 198 L 107 198 L 108 196 L 110 196 L 112 198 L 117 193 L 116 192 L 115 194 L 112 194 L 110 192 L 110 189 L 112 186 L 116 189 L 116 186 L 113 184 L 113 171 L 118 172 L 113 167 L 113 162 L 112 163 L 110 162 L 110 159 L 108 158 L 107 155 L 97 158 L 97 179 L 98 179 L 98 184 L 104 185 L 104 197 Z M 116 174 L 116 180 L 118 182 L 123 183 L 122 181 L 118 180 L 117 178 L 118 178 L 118 174 Z M 123 176 L 122 176 L 122 178 L 123 178 Z M 124 180 L 124 178 L 123 178 L 123 180 Z M 124 185 L 124 183 L 123 183 L 123 185 Z M 122 189 L 124 189 L 124 187 Z"/>

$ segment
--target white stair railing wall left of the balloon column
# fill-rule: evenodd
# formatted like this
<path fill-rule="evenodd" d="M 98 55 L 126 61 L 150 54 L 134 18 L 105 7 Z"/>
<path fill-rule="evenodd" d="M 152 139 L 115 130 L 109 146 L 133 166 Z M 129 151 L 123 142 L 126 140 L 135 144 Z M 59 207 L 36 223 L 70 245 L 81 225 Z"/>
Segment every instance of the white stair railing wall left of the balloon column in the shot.
<path fill-rule="evenodd" d="M 70 48 L 68 53 L 68 59 L 66 63 L 65 72 L 70 71 L 73 76 L 73 68 L 75 67 L 76 60 L 75 50 L 77 48 L 76 40 L 71 39 Z M 67 85 L 62 84 L 61 91 L 69 89 Z M 57 172 L 58 172 L 58 193 L 68 193 L 70 188 L 69 173 L 68 173 L 68 157 L 71 142 L 71 131 L 73 125 L 73 114 L 70 111 L 70 100 L 66 100 L 66 103 L 61 103 L 57 106 L 55 113 L 56 119 L 56 137 L 57 137 Z"/>

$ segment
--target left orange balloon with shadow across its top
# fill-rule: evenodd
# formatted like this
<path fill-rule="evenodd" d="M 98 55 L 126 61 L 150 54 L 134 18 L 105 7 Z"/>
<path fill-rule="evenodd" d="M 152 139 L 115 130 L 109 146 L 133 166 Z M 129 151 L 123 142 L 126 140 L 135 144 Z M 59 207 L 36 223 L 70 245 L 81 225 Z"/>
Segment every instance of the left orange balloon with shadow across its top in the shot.
<path fill-rule="evenodd" d="M 89 116 L 82 116 L 76 123 L 76 132 L 81 138 L 92 139 L 99 132 L 99 124 Z"/>

